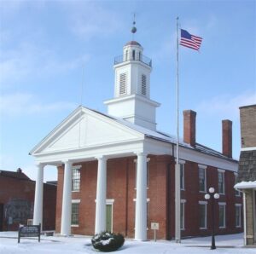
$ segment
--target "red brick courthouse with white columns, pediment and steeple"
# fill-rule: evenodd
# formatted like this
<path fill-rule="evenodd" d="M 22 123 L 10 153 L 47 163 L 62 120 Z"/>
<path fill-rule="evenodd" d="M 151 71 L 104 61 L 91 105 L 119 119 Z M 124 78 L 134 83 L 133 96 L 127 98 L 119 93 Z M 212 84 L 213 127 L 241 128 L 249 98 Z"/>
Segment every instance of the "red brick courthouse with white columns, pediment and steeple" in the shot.
<path fill-rule="evenodd" d="M 56 232 L 95 234 L 120 232 L 135 240 L 171 239 L 175 227 L 176 138 L 156 130 L 150 99 L 152 62 L 143 47 L 125 44 L 114 61 L 114 98 L 105 101 L 108 114 L 78 107 L 31 151 L 38 164 L 34 223 L 44 206 L 44 165 L 58 168 Z M 232 159 L 232 123 L 223 121 L 223 153 L 196 142 L 194 111 L 183 112 L 181 165 L 181 228 L 183 236 L 211 233 L 210 187 L 216 201 L 217 234 L 242 231 L 241 196 L 234 187 L 238 163 Z"/>

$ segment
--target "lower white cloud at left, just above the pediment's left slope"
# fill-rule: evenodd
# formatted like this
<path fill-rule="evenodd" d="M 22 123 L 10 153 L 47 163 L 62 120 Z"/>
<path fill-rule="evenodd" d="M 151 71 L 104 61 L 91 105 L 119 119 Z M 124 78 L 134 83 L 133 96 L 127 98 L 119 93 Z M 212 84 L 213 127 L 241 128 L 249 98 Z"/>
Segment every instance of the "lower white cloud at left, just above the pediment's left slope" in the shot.
<path fill-rule="evenodd" d="M 38 113 L 52 113 L 64 109 L 73 109 L 71 102 L 56 101 L 49 104 L 38 102 L 36 96 L 26 93 L 16 93 L 0 96 L 0 113 L 3 116 L 16 117 Z"/>

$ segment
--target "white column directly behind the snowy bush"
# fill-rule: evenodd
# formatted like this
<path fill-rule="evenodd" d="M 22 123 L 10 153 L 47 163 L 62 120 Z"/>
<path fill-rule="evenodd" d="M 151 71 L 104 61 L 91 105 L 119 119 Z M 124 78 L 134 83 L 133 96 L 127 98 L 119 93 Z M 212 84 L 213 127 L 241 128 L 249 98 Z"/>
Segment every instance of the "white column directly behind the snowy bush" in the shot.
<path fill-rule="evenodd" d="M 98 158 L 95 234 L 106 230 L 107 159 Z"/>

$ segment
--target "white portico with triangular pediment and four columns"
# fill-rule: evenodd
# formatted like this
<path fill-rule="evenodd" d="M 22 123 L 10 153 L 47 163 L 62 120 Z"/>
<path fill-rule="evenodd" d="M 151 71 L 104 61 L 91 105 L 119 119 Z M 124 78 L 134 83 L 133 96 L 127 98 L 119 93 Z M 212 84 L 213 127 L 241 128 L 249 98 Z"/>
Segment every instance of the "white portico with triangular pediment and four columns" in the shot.
<path fill-rule="evenodd" d="M 86 123 L 85 123 L 86 121 Z M 90 127 L 94 124 L 94 128 Z M 97 124 L 108 125 L 108 130 L 101 129 Z M 66 130 L 68 126 L 68 131 Z M 76 138 L 73 129 L 77 126 L 82 133 Z M 86 126 L 86 127 L 85 127 Z M 90 132 L 90 133 L 89 133 Z M 64 135 L 63 135 L 64 133 Z M 115 134 L 119 142 L 111 140 Z M 95 139 L 101 139 L 101 144 L 89 145 Z M 121 138 L 123 141 L 121 141 Z M 69 147 L 60 149 L 59 144 L 65 140 Z M 71 147 L 73 140 L 83 146 Z M 171 146 L 171 144 L 170 144 Z M 166 150 L 166 151 L 164 151 Z M 170 148 L 160 146 L 155 141 L 145 141 L 143 133 L 133 130 L 128 126 L 91 111 L 85 107 L 79 107 L 66 120 L 49 134 L 35 147 L 32 154 L 38 164 L 38 178 L 36 182 L 36 195 L 33 222 L 38 224 L 43 221 L 43 182 L 45 165 L 62 165 L 64 167 L 64 179 L 61 205 L 61 234 L 71 234 L 71 207 L 72 207 L 72 168 L 79 163 L 97 161 L 96 178 L 96 213 L 95 234 L 106 230 L 106 200 L 107 200 L 107 165 L 108 159 L 137 157 L 137 189 L 135 212 L 135 240 L 147 240 L 147 156 L 148 154 L 160 154 L 170 151 Z M 94 154 L 94 156 L 92 156 Z"/>

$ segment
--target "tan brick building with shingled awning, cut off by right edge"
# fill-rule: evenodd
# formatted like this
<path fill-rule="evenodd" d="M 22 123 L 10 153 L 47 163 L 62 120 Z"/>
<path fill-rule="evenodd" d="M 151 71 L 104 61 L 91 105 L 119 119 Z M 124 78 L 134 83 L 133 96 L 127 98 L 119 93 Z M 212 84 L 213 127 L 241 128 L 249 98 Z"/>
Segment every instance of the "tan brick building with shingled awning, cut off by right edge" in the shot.
<path fill-rule="evenodd" d="M 256 245 L 256 105 L 240 107 L 241 153 L 235 188 L 244 195 L 245 245 Z"/>

